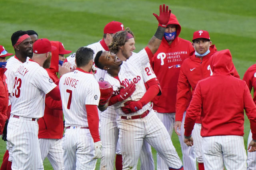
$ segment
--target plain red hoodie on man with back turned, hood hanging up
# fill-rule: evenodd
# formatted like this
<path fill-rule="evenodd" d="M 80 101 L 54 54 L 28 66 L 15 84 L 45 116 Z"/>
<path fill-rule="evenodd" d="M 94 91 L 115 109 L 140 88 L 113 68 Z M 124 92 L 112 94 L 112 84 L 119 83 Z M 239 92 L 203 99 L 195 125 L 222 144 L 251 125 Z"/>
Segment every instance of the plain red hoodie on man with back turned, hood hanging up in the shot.
<path fill-rule="evenodd" d="M 202 113 L 201 136 L 244 135 L 244 109 L 250 119 L 252 139 L 256 139 L 256 106 L 246 82 L 234 77 L 235 69 L 228 49 L 212 55 L 213 75 L 200 80 L 185 118 L 185 136 L 190 136 Z"/>

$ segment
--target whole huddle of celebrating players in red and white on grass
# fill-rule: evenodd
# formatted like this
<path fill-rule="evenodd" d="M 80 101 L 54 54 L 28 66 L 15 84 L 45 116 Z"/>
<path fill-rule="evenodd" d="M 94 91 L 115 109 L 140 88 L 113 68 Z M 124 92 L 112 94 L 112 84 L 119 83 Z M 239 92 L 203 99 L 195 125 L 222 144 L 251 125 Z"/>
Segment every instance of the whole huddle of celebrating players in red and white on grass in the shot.
<path fill-rule="evenodd" d="M 244 81 L 230 51 L 217 51 L 208 31 L 192 43 L 168 6 L 158 28 L 134 53 L 134 34 L 118 21 L 103 39 L 72 51 L 35 31 L 11 37 L 15 55 L 0 46 L 0 133 L 7 141 L 1 170 L 256 169 L 256 66 Z M 58 78 L 58 76 L 60 78 Z M 250 119 L 248 158 L 244 110 Z M 63 114 L 64 119 L 63 121 Z M 65 133 L 62 137 L 62 134 Z M 182 161 L 172 145 L 177 133 Z M 246 164 L 247 158 L 247 164 Z"/>

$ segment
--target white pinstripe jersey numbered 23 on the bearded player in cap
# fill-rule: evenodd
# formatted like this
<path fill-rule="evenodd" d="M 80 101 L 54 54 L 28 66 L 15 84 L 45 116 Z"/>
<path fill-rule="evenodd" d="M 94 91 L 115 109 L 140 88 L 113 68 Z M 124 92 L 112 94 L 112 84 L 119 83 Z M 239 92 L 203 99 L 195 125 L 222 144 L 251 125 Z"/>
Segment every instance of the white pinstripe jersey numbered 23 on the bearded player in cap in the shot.
<path fill-rule="evenodd" d="M 45 94 L 56 87 L 47 71 L 35 61 L 21 64 L 14 74 L 11 114 L 22 117 L 44 116 Z"/>

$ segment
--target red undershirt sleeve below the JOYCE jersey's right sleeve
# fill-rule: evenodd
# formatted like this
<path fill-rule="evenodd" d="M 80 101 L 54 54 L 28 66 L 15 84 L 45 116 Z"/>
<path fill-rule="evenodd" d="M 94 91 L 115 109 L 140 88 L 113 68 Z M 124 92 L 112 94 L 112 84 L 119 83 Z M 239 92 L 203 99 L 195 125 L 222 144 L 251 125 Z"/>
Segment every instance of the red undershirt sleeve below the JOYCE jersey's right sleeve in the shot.
<path fill-rule="evenodd" d="M 98 108 L 96 105 L 88 104 L 86 104 L 85 107 L 87 112 L 88 127 L 95 143 L 100 141 Z"/>

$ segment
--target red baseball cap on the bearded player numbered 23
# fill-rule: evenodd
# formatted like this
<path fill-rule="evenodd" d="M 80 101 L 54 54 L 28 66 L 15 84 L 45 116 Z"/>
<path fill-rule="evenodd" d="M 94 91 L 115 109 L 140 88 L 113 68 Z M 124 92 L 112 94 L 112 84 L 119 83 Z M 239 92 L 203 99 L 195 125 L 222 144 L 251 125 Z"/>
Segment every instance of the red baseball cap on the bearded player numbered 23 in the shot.
<path fill-rule="evenodd" d="M 47 38 L 38 39 L 33 45 L 33 53 L 36 54 L 44 54 L 56 49 L 57 48 L 52 46 Z"/>

